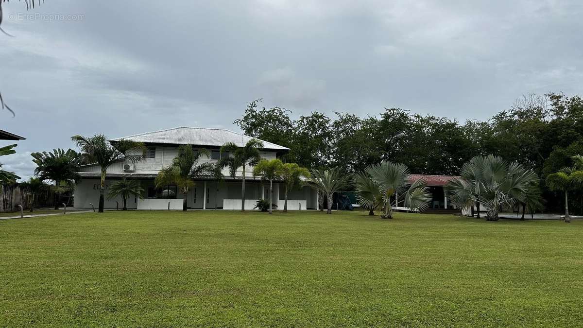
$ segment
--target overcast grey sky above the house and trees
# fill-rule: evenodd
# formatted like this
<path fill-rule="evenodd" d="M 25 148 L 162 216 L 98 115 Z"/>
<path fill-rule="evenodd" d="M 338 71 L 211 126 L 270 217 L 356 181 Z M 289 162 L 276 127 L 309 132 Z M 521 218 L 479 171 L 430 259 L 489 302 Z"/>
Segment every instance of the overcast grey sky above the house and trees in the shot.
<path fill-rule="evenodd" d="M 526 93 L 582 93 L 582 6 L 47 0 L 26 12 L 11 1 L 0 90 L 16 117 L 0 112 L 0 129 L 27 140 L 0 162 L 26 177 L 30 152 L 73 147 L 74 134 L 237 130 L 233 120 L 260 97 L 294 116 L 402 107 L 486 120 Z"/>

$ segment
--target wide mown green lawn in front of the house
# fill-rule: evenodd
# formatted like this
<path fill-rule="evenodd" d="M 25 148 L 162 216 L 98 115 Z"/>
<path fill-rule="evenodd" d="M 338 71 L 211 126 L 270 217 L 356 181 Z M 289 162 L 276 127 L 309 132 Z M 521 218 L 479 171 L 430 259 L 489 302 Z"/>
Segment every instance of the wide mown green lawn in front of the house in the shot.
<path fill-rule="evenodd" d="M 582 220 L 106 212 L 0 248 L 0 326 L 583 324 Z"/>

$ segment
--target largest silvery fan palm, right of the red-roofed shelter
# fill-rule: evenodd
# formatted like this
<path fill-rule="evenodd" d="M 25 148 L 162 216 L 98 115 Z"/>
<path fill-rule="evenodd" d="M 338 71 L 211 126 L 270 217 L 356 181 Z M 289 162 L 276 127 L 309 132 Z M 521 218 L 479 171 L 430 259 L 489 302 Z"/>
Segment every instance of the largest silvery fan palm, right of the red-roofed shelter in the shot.
<path fill-rule="evenodd" d="M 499 208 L 524 202 L 526 191 L 536 181 L 535 172 L 518 163 L 508 163 L 494 155 L 475 156 L 463 165 L 461 179 L 450 180 L 445 190 L 452 204 L 482 204 L 487 221 L 498 221 Z"/>

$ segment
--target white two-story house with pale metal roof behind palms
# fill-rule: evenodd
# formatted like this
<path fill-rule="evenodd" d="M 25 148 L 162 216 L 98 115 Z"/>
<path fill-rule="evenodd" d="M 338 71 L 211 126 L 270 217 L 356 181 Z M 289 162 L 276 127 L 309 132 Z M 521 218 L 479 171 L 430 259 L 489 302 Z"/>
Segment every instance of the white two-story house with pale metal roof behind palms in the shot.
<path fill-rule="evenodd" d="M 117 138 L 122 139 L 122 138 Z M 113 139 L 115 141 L 117 139 Z M 207 149 L 210 156 L 201 160 L 217 162 L 221 154 L 220 146 L 226 142 L 234 142 L 243 146 L 251 139 L 247 135 L 216 128 L 177 127 L 168 130 L 129 135 L 123 139 L 143 142 L 147 150 L 145 160 L 139 163 L 120 161 L 107 169 L 106 194 L 108 187 L 115 180 L 126 177 L 139 180 L 144 189 L 143 199 L 139 197 L 128 200 L 128 208 L 138 210 L 182 210 L 182 194 L 177 186 L 168 185 L 156 188 L 154 179 L 158 172 L 170 165 L 178 155 L 179 145 L 192 145 L 195 149 Z M 278 158 L 289 148 L 264 141 L 261 156 L 266 159 Z M 252 210 L 259 199 L 268 199 L 269 184 L 259 178 L 252 177 L 252 168 L 246 168 L 245 179 L 245 209 Z M 99 203 L 100 167 L 90 164 L 79 168 L 80 182 L 75 187 L 75 208 L 97 207 Z M 188 208 L 200 210 L 238 210 L 241 208 L 241 179 L 243 170 L 240 168 L 233 178 L 229 170 L 223 170 L 222 180 L 207 179 L 196 181 L 188 194 Z M 283 209 L 285 186 L 280 181 L 273 183 L 273 203 Z M 117 203 L 116 203 L 117 202 Z M 105 208 L 122 207 L 121 197 L 105 200 Z M 318 207 L 318 193 L 315 189 L 303 186 L 288 194 L 287 208 L 289 210 L 310 210 Z"/>

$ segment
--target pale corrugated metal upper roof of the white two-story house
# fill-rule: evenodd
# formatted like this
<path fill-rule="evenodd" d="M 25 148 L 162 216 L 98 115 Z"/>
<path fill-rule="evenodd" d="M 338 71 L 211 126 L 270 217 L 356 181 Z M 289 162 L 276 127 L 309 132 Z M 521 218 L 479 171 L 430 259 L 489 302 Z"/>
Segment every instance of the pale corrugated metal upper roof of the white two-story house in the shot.
<path fill-rule="evenodd" d="M 222 146 L 227 142 L 233 142 L 237 146 L 244 146 L 252 139 L 247 135 L 217 128 L 193 128 L 176 127 L 166 130 L 152 131 L 141 134 L 128 135 L 127 137 L 115 138 L 131 139 L 133 141 L 150 144 L 173 144 L 173 145 L 200 145 L 200 146 Z M 274 149 L 279 151 L 289 151 L 289 148 L 264 141 L 264 149 Z"/>

